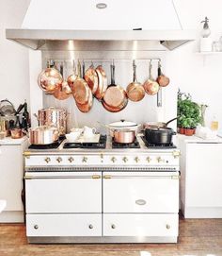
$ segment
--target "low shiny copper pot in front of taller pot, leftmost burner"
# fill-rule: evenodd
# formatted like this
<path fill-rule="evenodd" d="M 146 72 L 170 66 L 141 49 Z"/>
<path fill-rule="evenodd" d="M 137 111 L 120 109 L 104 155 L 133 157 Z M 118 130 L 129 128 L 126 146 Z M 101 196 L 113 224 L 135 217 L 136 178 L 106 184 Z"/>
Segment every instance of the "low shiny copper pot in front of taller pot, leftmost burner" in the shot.
<path fill-rule="evenodd" d="M 53 144 L 58 140 L 57 128 L 29 128 L 28 137 L 31 145 L 49 145 Z"/>

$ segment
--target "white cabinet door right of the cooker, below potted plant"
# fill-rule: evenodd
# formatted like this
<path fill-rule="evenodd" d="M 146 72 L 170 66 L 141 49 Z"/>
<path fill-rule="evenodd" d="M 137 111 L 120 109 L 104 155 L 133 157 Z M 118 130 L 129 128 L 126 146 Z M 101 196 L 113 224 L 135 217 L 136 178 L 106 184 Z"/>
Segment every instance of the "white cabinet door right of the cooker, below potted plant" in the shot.
<path fill-rule="evenodd" d="M 222 144 L 186 146 L 186 207 L 222 207 Z"/>

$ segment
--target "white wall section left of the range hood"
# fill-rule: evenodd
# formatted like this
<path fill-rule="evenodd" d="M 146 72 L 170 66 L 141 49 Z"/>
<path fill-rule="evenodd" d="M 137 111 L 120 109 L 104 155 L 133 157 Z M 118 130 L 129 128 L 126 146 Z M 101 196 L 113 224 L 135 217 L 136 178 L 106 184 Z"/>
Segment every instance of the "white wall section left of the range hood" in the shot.
<path fill-rule="evenodd" d="M 6 39 L 6 28 L 21 27 L 30 0 L 0 0 L 0 100 L 18 107 L 29 102 L 28 50 Z"/>

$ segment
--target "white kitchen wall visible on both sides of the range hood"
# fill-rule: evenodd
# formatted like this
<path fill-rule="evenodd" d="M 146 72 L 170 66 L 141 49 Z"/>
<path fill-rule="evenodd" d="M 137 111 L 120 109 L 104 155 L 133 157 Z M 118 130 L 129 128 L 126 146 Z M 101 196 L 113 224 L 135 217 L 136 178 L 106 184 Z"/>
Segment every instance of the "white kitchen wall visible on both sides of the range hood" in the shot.
<path fill-rule="evenodd" d="M 27 50 L 16 43 L 8 42 L 5 39 L 4 29 L 21 26 L 28 2 L 28 0 L 0 1 L 0 99 L 8 97 L 16 105 L 29 95 Z M 200 29 L 202 25 L 199 22 L 208 16 L 213 40 L 218 40 L 220 34 L 222 35 L 221 0 L 174 0 L 174 2 L 183 28 Z M 180 87 L 182 92 L 192 94 L 198 103 L 209 105 L 207 123 L 210 123 L 215 113 L 222 128 L 222 85 L 219 78 L 222 70 L 222 55 L 204 58 L 196 54 L 197 51 L 198 42 L 169 52 L 165 73 L 171 78 L 170 86 Z M 170 105 L 167 107 L 170 108 Z"/>

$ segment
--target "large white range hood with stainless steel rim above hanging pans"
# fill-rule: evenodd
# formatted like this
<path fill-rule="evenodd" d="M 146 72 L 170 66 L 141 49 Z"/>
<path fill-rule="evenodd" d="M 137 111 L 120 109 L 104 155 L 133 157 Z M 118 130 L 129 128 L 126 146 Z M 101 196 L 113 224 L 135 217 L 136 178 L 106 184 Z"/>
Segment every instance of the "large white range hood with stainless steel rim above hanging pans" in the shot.
<path fill-rule="evenodd" d="M 77 12 L 67 8 L 73 3 Z M 6 37 L 34 50 L 78 51 L 173 50 L 195 40 L 195 31 L 182 30 L 172 0 L 129 1 L 123 9 L 125 3 L 105 0 L 107 9 L 98 9 L 95 0 L 32 0 L 23 28 L 7 29 Z"/>

